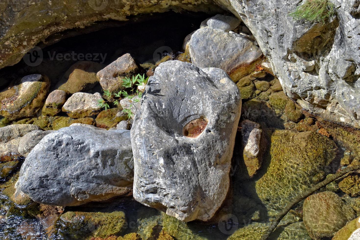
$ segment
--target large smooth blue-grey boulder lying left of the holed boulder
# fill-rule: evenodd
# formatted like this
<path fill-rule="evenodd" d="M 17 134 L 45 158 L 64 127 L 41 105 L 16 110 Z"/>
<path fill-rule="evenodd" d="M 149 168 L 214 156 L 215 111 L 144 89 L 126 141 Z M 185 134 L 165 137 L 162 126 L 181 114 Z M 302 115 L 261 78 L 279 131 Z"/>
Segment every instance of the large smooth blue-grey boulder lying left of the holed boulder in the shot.
<path fill-rule="evenodd" d="M 46 135 L 21 166 L 16 193 L 37 203 L 76 206 L 129 195 L 134 176 L 129 130 L 71 126 Z"/>

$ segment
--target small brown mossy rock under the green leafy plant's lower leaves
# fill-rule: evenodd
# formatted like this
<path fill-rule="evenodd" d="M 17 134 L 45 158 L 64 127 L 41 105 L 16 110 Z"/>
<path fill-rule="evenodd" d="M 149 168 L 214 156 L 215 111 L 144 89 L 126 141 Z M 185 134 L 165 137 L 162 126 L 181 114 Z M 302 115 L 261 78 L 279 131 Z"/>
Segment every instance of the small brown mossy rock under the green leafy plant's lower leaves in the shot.
<path fill-rule="evenodd" d="M 126 114 L 123 114 L 120 117 L 116 117 L 116 114 L 120 112 L 122 108 L 111 108 L 107 110 L 103 110 L 96 117 L 96 127 L 109 129 L 111 127 L 116 127 L 116 124 L 119 122 L 126 120 Z"/>

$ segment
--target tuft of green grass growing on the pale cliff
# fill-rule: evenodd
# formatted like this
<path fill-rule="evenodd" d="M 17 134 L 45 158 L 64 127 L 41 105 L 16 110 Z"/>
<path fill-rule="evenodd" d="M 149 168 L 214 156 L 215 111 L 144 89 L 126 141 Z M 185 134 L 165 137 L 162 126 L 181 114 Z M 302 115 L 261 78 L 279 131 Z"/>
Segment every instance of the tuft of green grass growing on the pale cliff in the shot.
<path fill-rule="evenodd" d="M 329 0 L 306 0 L 289 15 L 296 20 L 325 23 L 335 13 L 335 6 Z"/>

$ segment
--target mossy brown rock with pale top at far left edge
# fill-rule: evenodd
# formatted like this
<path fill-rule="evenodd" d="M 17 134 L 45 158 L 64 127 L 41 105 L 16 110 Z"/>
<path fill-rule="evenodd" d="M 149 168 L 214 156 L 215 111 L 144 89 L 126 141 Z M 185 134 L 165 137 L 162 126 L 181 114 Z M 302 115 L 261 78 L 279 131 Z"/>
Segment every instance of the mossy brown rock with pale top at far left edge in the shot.
<path fill-rule="evenodd" d="M 44 75 L 32 74 L 23 77 L 13 87 L 15 91 L 1 99 L 0 114 L 9 120 L 33 116 L 41 109 L 49 87 L 49 78 Z"/>

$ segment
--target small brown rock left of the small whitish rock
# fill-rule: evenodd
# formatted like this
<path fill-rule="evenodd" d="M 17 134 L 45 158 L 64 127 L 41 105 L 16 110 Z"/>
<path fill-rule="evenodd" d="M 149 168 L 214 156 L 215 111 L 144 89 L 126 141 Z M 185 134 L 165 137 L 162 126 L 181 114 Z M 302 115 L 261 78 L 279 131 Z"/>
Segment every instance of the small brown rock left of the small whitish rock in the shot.
<path fill-rule="evenodd" d="M 43 115 L 55 116 L 61 112 L 61 107 L 66 102 L 66 92 L 63 90 L 55 90 L 50 92 L 46 98 L 45 105 L 41 113 Z"/>

